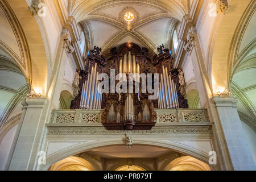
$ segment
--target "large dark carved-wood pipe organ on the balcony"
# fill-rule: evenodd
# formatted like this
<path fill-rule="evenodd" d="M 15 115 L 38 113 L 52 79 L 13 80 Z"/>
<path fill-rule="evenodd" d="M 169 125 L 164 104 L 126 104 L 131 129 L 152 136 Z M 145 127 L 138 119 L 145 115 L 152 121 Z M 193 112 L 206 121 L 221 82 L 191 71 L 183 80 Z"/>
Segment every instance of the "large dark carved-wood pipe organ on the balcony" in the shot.
<path fill-rule="evenodd" d="M 127 43 L 112 48 L 108 60 L 100 55 L 99 50 L 94 47 L 85 60 L 86 69 L 80 72 L 80 91 L 72 101 L 71 109 L 103 109 L 101 120 L 108 130 L 150 130 L 157 117 L 154 108 L 188 108 L 187 100 L 179 90 L 179 71 L 172 68 L 169 49 L 150 56 L 147 48 Z M 113 76 L 113 73 L 110 73 L 110 69 L 115 70 L 114 76 L 118 73 L 125 76 L 125 79 L 122 78 L 122 84 L 125 82 L 127 92 L 110 92 L 112 90 L 109 85 L 109 93 L 98 93 L 100 81 L 97 81 L 97 76 L 106 73 L 111 83 L 113 79 L 110 76 Z M 137 75 L 129 77 L 130 73 Z M 148 99 L 152 94 L 142 92 L 142 78 L 139 77 L 141 73 L 159 74 L 155 100 Z M 114 85 L 117 86 L 118 83 L 119 80 L 114 79 Z M 130 85 L 133 85 L 133 88 L 129 88 Z M 139 85 L 139 93 L 134 92 L 135 85 Z"/>

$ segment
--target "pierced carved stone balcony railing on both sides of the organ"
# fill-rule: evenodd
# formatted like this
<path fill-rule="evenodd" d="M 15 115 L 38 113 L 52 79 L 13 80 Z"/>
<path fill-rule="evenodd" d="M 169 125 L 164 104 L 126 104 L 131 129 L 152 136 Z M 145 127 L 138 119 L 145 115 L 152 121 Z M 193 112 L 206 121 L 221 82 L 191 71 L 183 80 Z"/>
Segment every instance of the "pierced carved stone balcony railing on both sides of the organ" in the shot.
<path fill-rule="evenodd" d="M 49 123 L 101 123 L 100 109 L 52 110 Z M 155 109 L 156 123 L 209 122 L 207 109 Z"/>

